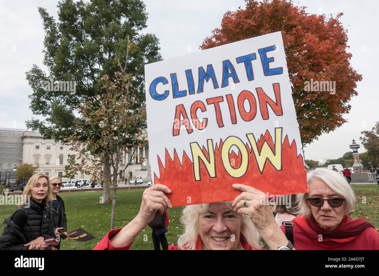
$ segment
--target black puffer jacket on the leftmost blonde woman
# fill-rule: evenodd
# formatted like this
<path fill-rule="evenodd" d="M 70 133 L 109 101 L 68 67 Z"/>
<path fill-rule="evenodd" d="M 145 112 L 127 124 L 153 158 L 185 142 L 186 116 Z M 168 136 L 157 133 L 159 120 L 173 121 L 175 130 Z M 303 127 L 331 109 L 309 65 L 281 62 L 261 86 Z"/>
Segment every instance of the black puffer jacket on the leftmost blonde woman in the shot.
<path fill-rule="evenodd" d="M 30 200 L 30 207 L 22 205 L 13 215 L 8 216 L 3 223 L 3 235 L 0 238 L 0 250 L 28 250 L 24 246 L 38 237 L 54 238 L 53 223 L 50 219 L 50 210 L 45 204 L 38 204 Z M 25 212 L 26 221 L 23 227 L 17 226 L 13 218 L 17 212 Z"/>

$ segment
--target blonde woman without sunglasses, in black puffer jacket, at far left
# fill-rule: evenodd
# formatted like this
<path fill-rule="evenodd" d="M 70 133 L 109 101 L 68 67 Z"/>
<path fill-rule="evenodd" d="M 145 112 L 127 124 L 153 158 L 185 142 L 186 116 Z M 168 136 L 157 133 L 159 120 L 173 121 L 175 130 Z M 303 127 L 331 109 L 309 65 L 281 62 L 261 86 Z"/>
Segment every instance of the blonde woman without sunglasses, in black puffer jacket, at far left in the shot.
<path fill-rule="evenodd" d="M 30 199 L 4 221 L 6 226 L 0 238 L 0 250 L 53 249 L 44 241 L 54 237 L 47 206 L 51 191 L 49 176 L 36 173 L 30 177 L 23 191 L 23 196 Z"/>

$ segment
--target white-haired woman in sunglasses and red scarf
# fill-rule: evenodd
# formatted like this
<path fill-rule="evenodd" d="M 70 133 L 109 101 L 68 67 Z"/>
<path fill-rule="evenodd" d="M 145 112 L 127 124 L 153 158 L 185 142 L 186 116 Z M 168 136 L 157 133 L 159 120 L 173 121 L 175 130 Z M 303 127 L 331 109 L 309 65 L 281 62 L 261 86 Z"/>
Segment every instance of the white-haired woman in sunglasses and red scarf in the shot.
<path fill-rule="evenodd" d="M 317 168 L 307 174 L 309 192 L 298 194 L 299 214 L 280 228 L 296 249 L 379 249 L 379 234 L 365 220 L 349 218 L 356 198 L 338 172 Z"/>

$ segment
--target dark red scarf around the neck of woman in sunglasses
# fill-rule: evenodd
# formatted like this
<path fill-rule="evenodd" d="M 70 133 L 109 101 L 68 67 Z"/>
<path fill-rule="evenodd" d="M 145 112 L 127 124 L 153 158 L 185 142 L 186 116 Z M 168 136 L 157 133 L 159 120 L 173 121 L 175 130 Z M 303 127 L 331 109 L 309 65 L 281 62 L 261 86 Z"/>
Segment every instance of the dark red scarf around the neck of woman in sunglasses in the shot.
<path fill-rule="evenodd" d="M 330 249 L 335 248 L 341 243 L 348 243 L 368 227 L 374 227 L 368 221 L 361 218 L 352 220 L 348 215 L 343 216 L 340 225 L 333 231 L 326 231 L 318 226 L 315 218 L 311 214 L 309 218 L 298 216 L 293 219 L 299 228 L 307 234 L 315 243 Z M 319 234 L 322 235 L 322 241 L 319 241 Z M 296 246 L 295 246 L 296 248 Z"/>

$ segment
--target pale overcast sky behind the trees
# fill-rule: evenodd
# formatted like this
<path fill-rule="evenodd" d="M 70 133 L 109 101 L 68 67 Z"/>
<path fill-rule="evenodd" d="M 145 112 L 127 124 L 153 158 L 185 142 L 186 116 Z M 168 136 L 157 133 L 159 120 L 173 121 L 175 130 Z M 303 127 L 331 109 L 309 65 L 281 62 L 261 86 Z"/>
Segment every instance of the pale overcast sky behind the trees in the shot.
<path fill-rule="evenodd" d="M 155 33 L 160 39 L 164 59 L 199 51 L 204 38 L 214 28 L 220 27 L 226 11 L 245 6 L 243 0 L 144 2 L 149 13 L 144 33 Z M 0 127 L 25 129 L 25 121 L 33 116 L 28 98 L 32 90 L 25 79 L 25 72 L 34 63 L 46 69 L 42 64 L 44 30 L 37 8 L 46 8 L 56 18 L 56 3 L 54 0 L 6 0 L 0 3 Z M 358 96 L 350 102 L 351 111 L 343 116 L 348 122 L 305 147 L 306 159 L 338 158 L 351 151 L 349 144 L 352 139 L 359 141 L 360 132 L 371 130 L 379 121 L 376 69 L 379 61 L 379 4 L 376 0 L 298 0 L 294 4 L 307 6 L 308 13 L 333 16 L 344 13 L 340 21 L 348 30 L 348 52 L 352 53 L 350 63 L 363 75 L 362 82 L 357 85 Z M 364 151 L 362 147 L 359 150 Z"/>

